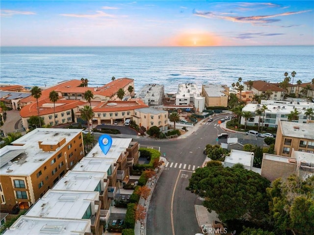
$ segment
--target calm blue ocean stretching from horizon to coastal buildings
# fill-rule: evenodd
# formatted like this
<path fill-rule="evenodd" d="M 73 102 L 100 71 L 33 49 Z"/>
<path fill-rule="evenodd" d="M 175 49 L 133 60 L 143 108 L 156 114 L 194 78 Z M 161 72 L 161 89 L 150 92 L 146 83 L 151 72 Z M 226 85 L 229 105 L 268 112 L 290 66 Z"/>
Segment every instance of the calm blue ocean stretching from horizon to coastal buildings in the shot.
<path fill-rule="evenodd" d="M 314 46 L 281 47 L 0 47 L 0 83 L 48 87 L 70 79 L 103 86 L 111 77 L 134 79 L 134 90 L 162 84 L 231 85 L 242 81 L 281 82 L 296 71 L 303 83 L 314 78 Z M 292 81 L 291 81 L 292 82 Z"/>

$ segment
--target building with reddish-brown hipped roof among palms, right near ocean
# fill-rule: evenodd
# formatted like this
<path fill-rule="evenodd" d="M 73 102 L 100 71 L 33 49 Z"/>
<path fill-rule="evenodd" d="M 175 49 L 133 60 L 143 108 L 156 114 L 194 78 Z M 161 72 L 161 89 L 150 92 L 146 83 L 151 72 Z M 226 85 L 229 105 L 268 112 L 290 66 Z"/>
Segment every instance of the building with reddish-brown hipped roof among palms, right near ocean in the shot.
<path fill-rule="evenodd" d="M 270 91 L 271 94 L 268 99 L 271 100 L 282 100 L 285 94 L 282 88 L 262 80 L 253 81 L 252 86 L 250 86 L 249 81 L 246 81 L 243 83 L 243 86 L 245 91 L 252 91 L 257 95 L 266 95 L 267 91 Z"/>

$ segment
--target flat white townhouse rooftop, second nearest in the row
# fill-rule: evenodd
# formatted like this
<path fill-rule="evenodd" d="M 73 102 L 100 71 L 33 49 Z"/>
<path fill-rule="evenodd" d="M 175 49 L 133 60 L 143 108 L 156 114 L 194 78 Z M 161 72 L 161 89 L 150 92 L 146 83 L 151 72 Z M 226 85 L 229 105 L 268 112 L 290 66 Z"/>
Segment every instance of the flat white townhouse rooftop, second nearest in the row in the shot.
<path fill-rule="evenodd" d="M 81 219 L 92 202 L 99 200 L 99 192 L 48 190 L 27 216 Z M 92 207 L 92 214 L 94 208 Z"/>

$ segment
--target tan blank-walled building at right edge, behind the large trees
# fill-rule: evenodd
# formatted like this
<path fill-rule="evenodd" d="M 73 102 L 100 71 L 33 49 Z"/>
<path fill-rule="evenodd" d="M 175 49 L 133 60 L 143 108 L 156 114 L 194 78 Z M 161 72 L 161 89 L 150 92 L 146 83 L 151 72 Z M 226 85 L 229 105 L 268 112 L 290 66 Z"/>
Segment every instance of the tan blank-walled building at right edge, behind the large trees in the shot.
<path fill-rule="evenodd" d="M 302 179 L 314 175 L 313 153 L 291 150 L 291 157 L 263 154 L 261 175 L 270 181 L 296 174 Z"/>

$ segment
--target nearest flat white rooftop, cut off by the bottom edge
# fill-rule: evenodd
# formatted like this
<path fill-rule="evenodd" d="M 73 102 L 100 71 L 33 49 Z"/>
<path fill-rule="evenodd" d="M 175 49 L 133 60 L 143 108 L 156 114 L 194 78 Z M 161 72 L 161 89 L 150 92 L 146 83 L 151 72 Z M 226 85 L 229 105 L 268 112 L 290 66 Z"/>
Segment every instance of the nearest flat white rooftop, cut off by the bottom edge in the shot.
<path fill-rule="evenodd" d="M 84 235 L 91 233 L 90 220 L 40 218 L 22 215 L 4 235 Z"/>

